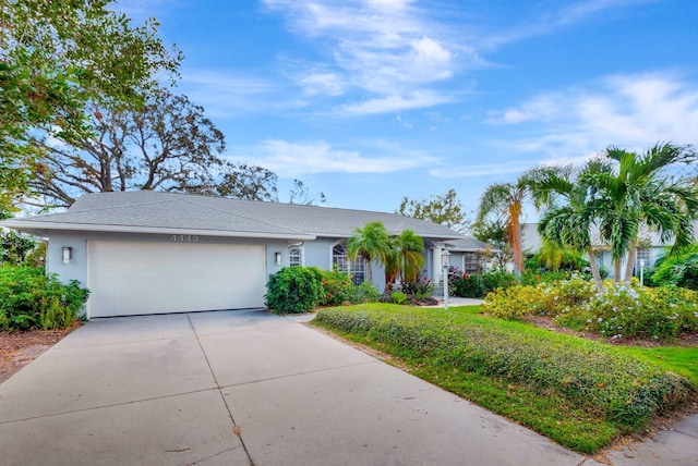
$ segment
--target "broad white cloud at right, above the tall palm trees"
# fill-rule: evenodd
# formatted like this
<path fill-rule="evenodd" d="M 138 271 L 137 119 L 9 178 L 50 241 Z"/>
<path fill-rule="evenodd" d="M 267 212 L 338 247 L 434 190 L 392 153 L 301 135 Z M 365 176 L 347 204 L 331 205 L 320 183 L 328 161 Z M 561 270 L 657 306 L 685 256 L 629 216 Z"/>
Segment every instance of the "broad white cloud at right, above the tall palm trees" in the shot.
<path fill-rule="evenodd" d="M 646 150 L 658 142 L 696 144 L 698 87 L 671 73 L 614 75 L 489 112 L 491 124 L 526 123 L 512 148 L 576 159 L 610 145 Z"/>

